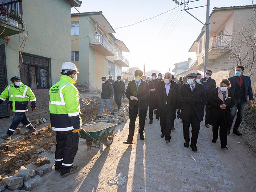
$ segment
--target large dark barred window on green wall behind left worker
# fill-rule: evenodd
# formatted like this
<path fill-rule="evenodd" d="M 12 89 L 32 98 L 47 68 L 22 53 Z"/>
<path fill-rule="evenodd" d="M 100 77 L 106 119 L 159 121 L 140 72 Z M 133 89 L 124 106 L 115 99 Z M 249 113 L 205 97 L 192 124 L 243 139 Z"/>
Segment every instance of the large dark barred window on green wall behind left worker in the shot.
<path fill-rule="evenodd" d="M 22 58 L 22 83 L 31 89 L 49 89 L 51 78 L 50 59 L 28 54 L 22 54 Z"/>

